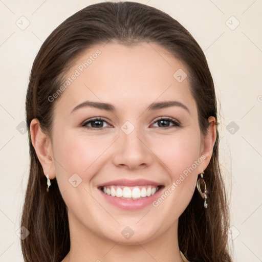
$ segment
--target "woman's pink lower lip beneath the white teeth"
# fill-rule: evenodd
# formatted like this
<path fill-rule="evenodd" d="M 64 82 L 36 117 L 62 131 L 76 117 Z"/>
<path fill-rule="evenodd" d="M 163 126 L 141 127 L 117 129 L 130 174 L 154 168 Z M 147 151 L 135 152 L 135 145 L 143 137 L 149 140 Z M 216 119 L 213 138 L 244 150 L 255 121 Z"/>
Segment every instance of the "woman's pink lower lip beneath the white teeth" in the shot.
<path fill-rule="evenodd" d="M 161 187 L 155 194 L 150 195 L 150 197 L 145 197 L 142 199 L 137 200 L 127 200 L 127 199 L 121 199 L 117 197 L 112 197 L 111 195 L 105 194 L 102 192 L 102 190 L 98 189 L 100 193 L 103 195 L 106 201 L 108 201 L 110 204 L 126 210 L 136 210 L 136 209 L 142 209 L 154 202 L 157 198 L 159 198 L 159 195 L 161 194 L 164 187 Z"/>

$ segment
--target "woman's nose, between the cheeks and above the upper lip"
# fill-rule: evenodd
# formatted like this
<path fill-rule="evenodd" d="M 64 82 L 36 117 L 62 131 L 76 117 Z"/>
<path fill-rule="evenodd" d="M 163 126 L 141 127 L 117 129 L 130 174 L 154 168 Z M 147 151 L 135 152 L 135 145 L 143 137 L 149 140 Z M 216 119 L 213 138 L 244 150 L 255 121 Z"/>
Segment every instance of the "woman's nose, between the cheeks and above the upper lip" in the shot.
<path fill-rule="evenodd" d="M 148 144 L 148 139 L 139 127 L 129 134 L 124 128 L 120 129 L 114 148 L 114 164 L 127 169 L 148 167 L 154 161 L 154 154 Z"/>

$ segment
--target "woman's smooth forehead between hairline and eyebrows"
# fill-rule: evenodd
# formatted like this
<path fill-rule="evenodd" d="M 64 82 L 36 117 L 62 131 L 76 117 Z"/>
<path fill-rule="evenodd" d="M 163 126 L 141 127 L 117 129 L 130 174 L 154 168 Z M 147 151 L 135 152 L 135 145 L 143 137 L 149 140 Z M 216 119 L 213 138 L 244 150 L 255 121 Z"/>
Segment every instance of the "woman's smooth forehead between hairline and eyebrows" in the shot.
<path fill-rule="evenodd" d="M 185 65 L 155 43 L 96 45 L 74 61 L 58 104 L 67 111 L 93 100 L 123 110 L 128 104 L 134 108 L 173 98 L 194 107 L 187 75 Z"/>

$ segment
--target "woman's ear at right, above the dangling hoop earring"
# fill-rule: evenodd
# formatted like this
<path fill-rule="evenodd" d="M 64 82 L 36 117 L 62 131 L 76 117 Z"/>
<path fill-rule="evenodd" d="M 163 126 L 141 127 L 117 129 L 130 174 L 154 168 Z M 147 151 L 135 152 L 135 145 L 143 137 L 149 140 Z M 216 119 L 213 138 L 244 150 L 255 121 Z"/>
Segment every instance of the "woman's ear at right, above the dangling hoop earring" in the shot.
<path fill-rule="evenodd" d="M 213 153 L 213 147 L 216 140 L 216 123 L 215 118 L 213 116 L 208 118 L 209 126 L 207 128 L 207 134 L 202 138 L 201 145 L 201 155 L 200 157 L 203 159 L 202 164 L 198 167 L 198 173 L 202 173 L 205 170 L 210 162 Z"/>

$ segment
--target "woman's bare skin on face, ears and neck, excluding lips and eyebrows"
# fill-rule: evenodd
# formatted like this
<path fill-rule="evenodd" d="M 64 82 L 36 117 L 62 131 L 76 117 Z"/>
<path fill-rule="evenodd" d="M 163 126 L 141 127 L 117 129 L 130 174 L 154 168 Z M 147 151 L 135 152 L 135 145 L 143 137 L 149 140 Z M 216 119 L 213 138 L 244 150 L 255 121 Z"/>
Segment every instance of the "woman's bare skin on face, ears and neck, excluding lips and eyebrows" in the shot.
<path fill-rule="evenodd" d="M 100 50 L 101 54 L 83 70 L 79 65 Z M 31 122 L 34 148 L 45 174 L 57 178 L 68 207 L 71 249 L 62 262 L 82 261 L 176 261 L 182 262 L 178 245 L 178 219 L 189 204 L 198 174 L 207 167 L 214 146 L 215 119 L 209 117 L 208 133 L 200 132 L 197 104 L 186 77 L 174 72 L 187 70 L 164 48 L 147 42 L 126 47 L 111 42 L 86 50 L 68 72 L 80 75 L 60 95 L 51 137 L 42 133 L 39 122 Z M 110 103 L 115 111 L 82 102 Z M 147 110 L 153 102 L 179 101 L 158 110 Z M 73 111 L 73 112 L 72 112 Z M 91 118 L 102 118 L 101 126 Z M 168 128 L 159 123 L 166 117 Z M 126 134 L 121 126 L 129 121 Z M 124 210 L 108 203 L 97 185 L 116 179 L 147 179 L 167 189 L 186 168 L 202 157 L 197 167 L 157 207 Z M 81 178 L 74 187 L 73 174 Z M 76 177 L 76 178 L 78 178 Z M 204 207 L 203 207 L 204 208 Z M 126 227 L 134 235 L 126 239 Z"/>

